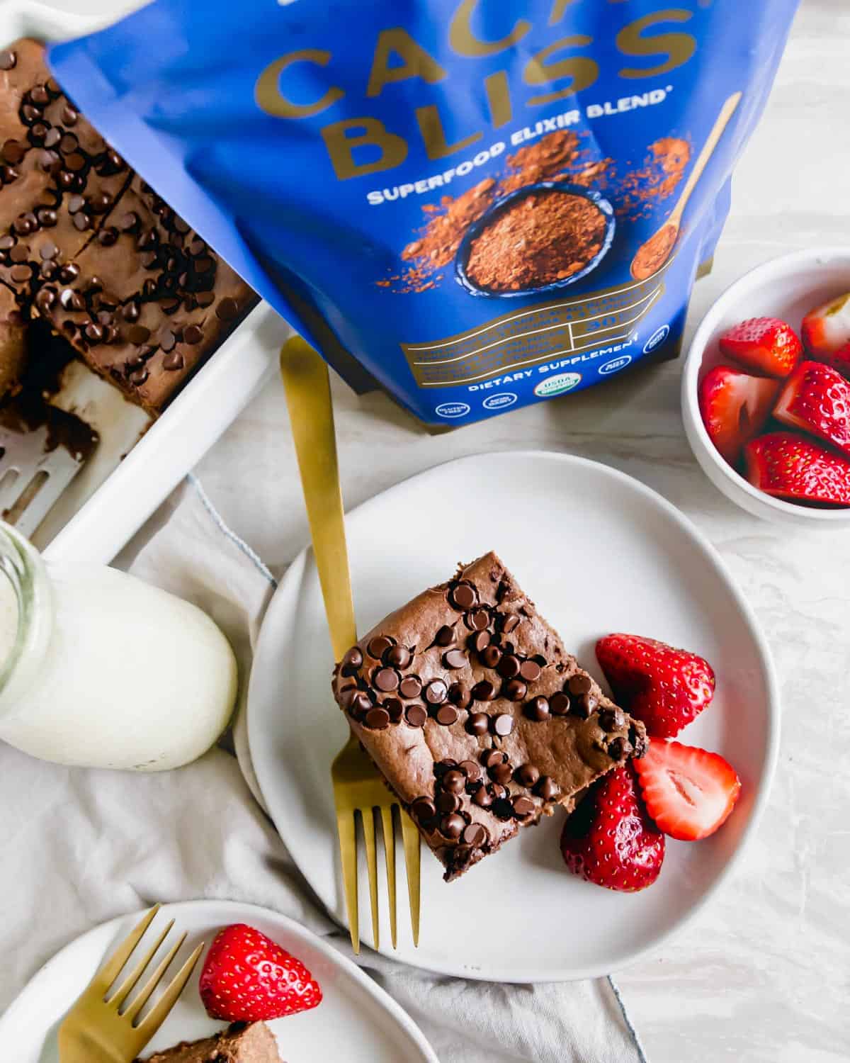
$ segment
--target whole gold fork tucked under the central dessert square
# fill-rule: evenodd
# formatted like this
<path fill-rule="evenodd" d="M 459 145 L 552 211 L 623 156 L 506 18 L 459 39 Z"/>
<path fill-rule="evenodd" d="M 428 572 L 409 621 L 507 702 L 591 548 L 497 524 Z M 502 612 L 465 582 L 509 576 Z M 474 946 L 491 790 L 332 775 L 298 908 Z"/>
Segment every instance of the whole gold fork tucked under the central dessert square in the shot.
<path fill-rule="evenodd" d="M 337 442 L 334 434 L 334 407 L 330 382 L 322 358 L 300 337 L 293 337 L 280 351 L 280 376 L 286 389 L 289 420 L 295 441 L 304 500 L 312 535 L 312 549 L 322 596 L 330 629 L 334 657 L 341 660 L 357 641 L 354 620 L 345 524 L 339 484 Z M 372 908 L 372 940 L 378 947 L 378 875 L 375 846 L 375 812 L 384 830 L 387 863 L 390 937 L 396 947 L 395 919 L 395 837 L 393 809 L 397 810 L 407 865 L 407 891 L 413 944 L 419 945 L 420 915 L 420 840 L 419 831 L 382 777 L 352 736 L 337 754 L 330 767 L 334 803 L 337 810 L 345 909 L 355 952 L 360 951 L 360 924 L 357 907 L 357 816 L 362 822 L 366 861 L 369 871 L 369 895 Z"/>

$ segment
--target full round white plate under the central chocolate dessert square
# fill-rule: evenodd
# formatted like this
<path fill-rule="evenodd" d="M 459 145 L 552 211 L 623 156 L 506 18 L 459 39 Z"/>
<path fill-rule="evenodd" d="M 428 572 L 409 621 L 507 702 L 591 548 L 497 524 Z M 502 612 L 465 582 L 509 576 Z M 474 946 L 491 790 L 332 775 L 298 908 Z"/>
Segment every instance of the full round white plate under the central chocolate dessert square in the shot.
<path fill-rule="evenodd" d="M 717 673 L 717 693 L 680 739 L 720 753 L 743 783 L 722 829 L 702 842 L 670 841 L 659 880 L 638 894 L 599 889 L 566 870 L 558 846 L 561 814 L 521 830 L 450 884 L 423 846 L 419 948 L 402 880 L 398 948 L 390 944 L 382 900 L 380 950 L 444 974 L 530 982 L 604 975 L 658 946 L 741 855 L 777 756 L 769 652 L 717 553 L 636 480 L 545 452 L 439 466 L 359 506 L 346 529 L 360 631 L 449 578 L 458 561 L 494 550 L 600 681 L 594 643 L 610 631 L 702 654 Z M 347 726 L 330 695 L 333 665 L 316 566 L 305 551 L 264 621 L 249 691 L 249 743 L 280 836 L 328 911 L 345 924 L 329 771 Z M 398 861 L 403 867 L 401 850 Z M 360 932 L 369 943 L 366 881 L 361 866 Z"/>

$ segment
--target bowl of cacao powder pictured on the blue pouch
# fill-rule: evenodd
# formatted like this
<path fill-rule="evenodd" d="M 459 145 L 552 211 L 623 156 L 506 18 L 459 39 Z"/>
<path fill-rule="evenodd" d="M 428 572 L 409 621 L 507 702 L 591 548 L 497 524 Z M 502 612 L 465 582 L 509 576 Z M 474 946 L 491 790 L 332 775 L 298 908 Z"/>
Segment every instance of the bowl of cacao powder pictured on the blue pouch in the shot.
<path fill-rule="evenodd" d="M 541 181 L 496 200 L 468 230 L 456 259 L 473 296 L 551 291 L 596 269 L 614 239 L 614 208 L 598 192 Z"/>

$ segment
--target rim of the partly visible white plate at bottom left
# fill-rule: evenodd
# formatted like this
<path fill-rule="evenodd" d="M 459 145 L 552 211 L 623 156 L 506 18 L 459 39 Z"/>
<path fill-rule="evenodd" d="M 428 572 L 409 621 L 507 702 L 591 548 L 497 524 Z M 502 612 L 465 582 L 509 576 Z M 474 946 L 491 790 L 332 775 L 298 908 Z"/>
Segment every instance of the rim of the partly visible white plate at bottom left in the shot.
<path fill-rule="evenodd" d="M 272 919 L 273 922 L 284 924 L 289 932 L 293 933 L 298 938 L 308 941 L 310 948 L 314 948 L 320 951 L 330 965 L 341 967 L 350 978 L 353 978 L 354 981 L 356 981 L 375 1000 L 375 1002 L 385 1012 L 387 1012 L 400 1027 L 402 1027 L 405 1033 L 421 1050 L 422 1058 L 426 1060 L 427 1063 L 440 1063 L 434 1049 L 425 1040 L 425 1035 L 422 1033 L 413 1019 L 385 990 L 376 984 L 376 982 L 373 981 L 373 979 L 371 979 L 368 975 L 363 974 L 357 964 L 350 960 L 346 956 L 343 956 L 343 954 L 334 948 L 333 945 L 328 945 L 317 934 L 312 933 L 312 931 L 303 927 L 300 923 L 296 923 L 288 915 L 284 915 L 282 912 L 275 912 L 271 908 L 264 908 L 260 905 L 252 905 L 241 900 L 216 900 L 211 897 L 199 897 L 196 900 L 178 900 L 171 904 L 164 904 L 162 914 L 168 918 L 173 917 L 176 925 L 180 926 L 181 912 L 185 912 L 187 909 L 206 906 L 215 906 L 216 908 L 223 908 L 226 910 L 233 915 L 233 918 L 230 919 L 231 923 L 250 924 L 251 922 L 259 919 Z M 30 996 L 35 996 L 38 993 L 38 983 L 40 979 L 42 979 L 46 973 L 48 973 L 48 968 L 62 962 L 65 954 L 75 950 L 81 945 L 85 945 L 89 939 L 96 939 L 105 933 L 107 930 L 115 932 L 118 931 L 121 926 L 132 925 L 134 921 L 138 921 L 143 914 L 144 910 L 135 913 L 129 912 L 124 915 L 117 915 L 113 919 L 100 923 L 98 926 L 92 927 L 85 933 L 82 933 L 72 941 L 69 941 L 67 945 L 64 945 L 45 964 L 42 964 L 38 971 L 36 971 L 30 981 L 23 986 L 20 993 L 8 1006 L 3 1015 L 0 1016 L 0 1035 L 6 1032 L 6 1027 L 10 1028 L 10 1031 L 14 1028 L 15 1013 L 19 1008 L 29 1006 Z M 91 974 L 94 975 L 95 972 L 92 971 Z M 70 1007 L 72 1002 L 72 1000 L 69 1000 L 68 1006 Z M 8 1043 L 14 1044 L 14 1036 L 10 1037 Z"/>

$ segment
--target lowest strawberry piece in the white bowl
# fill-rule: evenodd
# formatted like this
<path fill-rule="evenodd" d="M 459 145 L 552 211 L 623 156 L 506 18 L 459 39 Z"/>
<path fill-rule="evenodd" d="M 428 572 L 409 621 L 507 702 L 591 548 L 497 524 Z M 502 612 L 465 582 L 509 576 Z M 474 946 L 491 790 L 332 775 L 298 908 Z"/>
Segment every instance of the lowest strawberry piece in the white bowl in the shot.
<path fill-rule="evenodd" d="M 778 499 L 850 506 L 850 461 L 796 432 L 771 432 L 744 450 L 747 479 Z"/>

